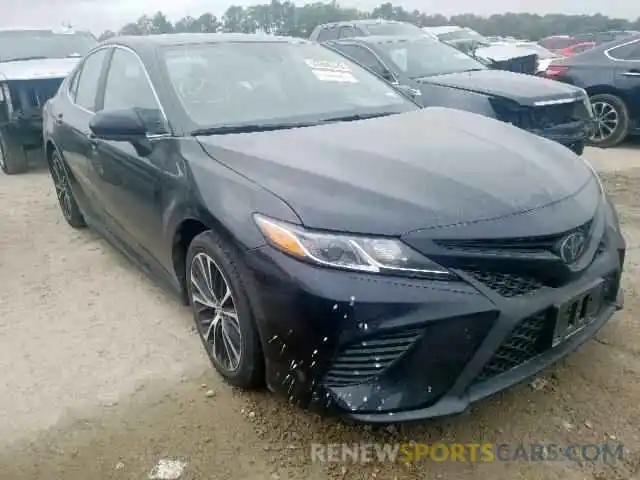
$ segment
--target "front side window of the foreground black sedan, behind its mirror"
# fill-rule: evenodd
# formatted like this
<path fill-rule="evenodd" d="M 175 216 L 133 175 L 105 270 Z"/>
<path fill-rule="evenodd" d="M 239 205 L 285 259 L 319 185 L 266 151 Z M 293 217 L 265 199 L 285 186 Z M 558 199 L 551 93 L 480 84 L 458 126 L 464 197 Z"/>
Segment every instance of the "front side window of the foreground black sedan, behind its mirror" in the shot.
<path fill-rule="evenodd" d="M 137 108 L 149 133 L 166 133 L 160 105 L 153 93 L 142 61 L 133 53 L 116 48 L 111 57 L 104 90 L 103 108 Z"/>

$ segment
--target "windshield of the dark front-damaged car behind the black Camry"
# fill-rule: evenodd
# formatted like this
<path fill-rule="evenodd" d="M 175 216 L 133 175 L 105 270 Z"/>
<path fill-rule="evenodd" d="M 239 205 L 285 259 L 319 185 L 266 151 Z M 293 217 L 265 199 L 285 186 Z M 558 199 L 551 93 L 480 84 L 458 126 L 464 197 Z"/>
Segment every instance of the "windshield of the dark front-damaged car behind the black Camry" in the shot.
<path fill-rule="evenodd" d="M 427 39 L 380 43 L 378 48 L 410 78 L 487 68 L 449 45 Z"/>

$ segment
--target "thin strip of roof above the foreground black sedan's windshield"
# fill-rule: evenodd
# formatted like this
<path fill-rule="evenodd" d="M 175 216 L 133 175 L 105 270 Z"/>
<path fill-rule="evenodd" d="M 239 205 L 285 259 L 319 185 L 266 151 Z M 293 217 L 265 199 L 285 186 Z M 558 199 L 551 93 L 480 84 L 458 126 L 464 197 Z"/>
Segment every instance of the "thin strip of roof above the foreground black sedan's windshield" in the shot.
<path fill-rule="evenodd" d="M 109 38 L 102 45 L 122 45 L 133 50 L 207 43 L 311 43 L 302 38 L 260 33 L 167 33 L 161 35 L 124 35 Z"/>

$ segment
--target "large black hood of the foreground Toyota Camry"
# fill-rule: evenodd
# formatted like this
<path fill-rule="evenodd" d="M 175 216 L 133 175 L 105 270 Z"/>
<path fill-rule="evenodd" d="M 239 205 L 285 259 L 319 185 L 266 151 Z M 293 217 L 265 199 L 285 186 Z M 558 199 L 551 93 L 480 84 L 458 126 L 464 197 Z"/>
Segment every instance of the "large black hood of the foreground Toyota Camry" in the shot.
<path fill-rule="evenodd" d="M 596 182 L 554 142 L 440 107 L 198 141 L 280 197 L 305 226 L 354 233 L 493 220 L 570 201 Z"/>

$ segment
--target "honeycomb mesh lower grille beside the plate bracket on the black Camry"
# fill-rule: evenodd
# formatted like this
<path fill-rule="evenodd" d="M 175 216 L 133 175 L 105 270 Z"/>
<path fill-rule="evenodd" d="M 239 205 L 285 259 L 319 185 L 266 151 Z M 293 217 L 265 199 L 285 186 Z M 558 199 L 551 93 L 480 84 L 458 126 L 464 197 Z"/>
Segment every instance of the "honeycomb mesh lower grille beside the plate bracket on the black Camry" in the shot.
<path fill-rule="evenodd" d="M 475 383 L 489 380 L 537 357 L 551 346 L 552 335 L 547 310 L 526 318 L 511 331 L 476 377 Z"/>

